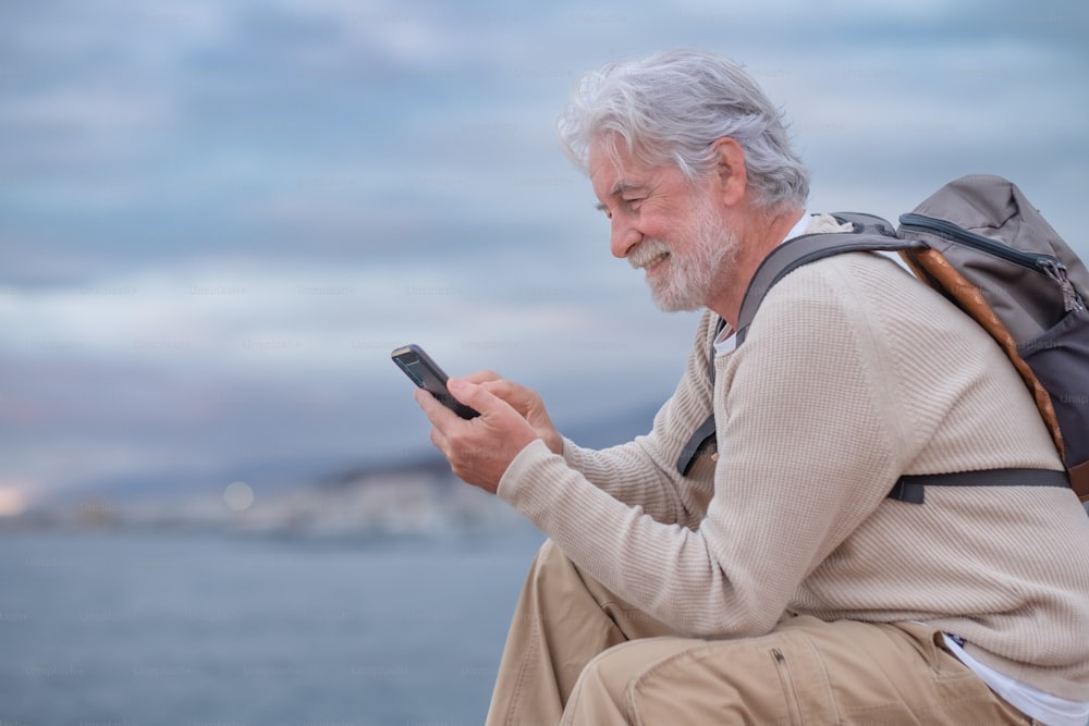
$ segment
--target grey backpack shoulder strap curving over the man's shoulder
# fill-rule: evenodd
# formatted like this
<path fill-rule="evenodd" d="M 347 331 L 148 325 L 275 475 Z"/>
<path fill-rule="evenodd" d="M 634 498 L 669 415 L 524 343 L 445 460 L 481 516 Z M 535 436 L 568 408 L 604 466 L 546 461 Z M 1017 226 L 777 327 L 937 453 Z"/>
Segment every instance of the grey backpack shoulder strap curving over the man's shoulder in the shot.
<path fill-rule="evenodd" d="M 841 253 L 898 251 L 926 247 L 922 242 L 901 239 L 896 236 L 895 229 L 880 217 L 856 212 L 839 212 L 833 217 L 841 222 L 849 222 L 854 230 L 793 237 L 773 249 L 757 268 L 745 291 L 737 317 L 737 345 L 745 342 L 748 327 L 768 291 L 803 264 Z"/>

